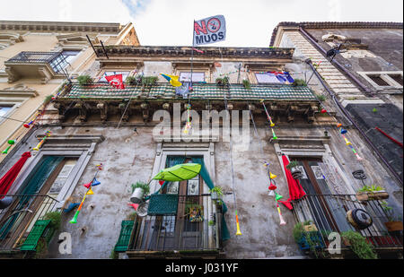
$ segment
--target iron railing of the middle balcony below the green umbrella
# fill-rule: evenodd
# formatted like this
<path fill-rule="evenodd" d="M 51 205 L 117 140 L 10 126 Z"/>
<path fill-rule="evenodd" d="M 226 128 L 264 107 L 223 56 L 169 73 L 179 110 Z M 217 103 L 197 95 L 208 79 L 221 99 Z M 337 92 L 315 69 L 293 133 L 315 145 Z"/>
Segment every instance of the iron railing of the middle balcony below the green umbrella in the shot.
<path fill-rule="evenodd" d="M 128 251 L 219 250 L 222 213 L 208 217 L 207 197 L 179 196 L 177 212 L 138 217 Z"/>

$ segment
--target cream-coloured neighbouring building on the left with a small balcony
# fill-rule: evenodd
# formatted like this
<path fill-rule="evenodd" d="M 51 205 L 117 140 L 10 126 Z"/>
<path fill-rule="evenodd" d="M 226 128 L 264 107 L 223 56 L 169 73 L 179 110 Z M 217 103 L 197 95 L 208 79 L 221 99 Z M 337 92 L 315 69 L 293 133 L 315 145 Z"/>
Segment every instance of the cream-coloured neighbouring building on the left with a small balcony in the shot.
<path fill-rule="evenodd" d="M 0 21 L 0 147 L 22 138 L 23 127 L 66 80 L 92 64 L 94 45 L 139 45 L 132 23 Z M 8 119 L 13 118 L 14 120 Z M 4 154 L 0 156 L 3 160 Z"/>

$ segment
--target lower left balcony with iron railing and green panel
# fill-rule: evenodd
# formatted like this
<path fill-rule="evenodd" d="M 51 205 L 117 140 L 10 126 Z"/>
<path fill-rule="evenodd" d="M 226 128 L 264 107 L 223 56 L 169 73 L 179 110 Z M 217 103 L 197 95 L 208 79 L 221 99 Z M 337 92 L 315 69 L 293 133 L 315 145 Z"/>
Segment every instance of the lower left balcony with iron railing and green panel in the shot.
<path fill-rule="evenodd" d="M 8 202 L 7 198 L 11 200 L 9 205 L 4 204 Z M 34 250 L 40 238 L 49 240 L 52 237 L 53 230 L 47 225 L 37 228 L 37 223 L 47 220 L 48 212 L 57 210 L 55 198 L 49 195 L 0 195 L 0 199 L 0 257 L 22 255 L 21 247 L 28 243 L 30 233 L 38 237 L 31 235 L 36 241 L 29 247 Z"/>

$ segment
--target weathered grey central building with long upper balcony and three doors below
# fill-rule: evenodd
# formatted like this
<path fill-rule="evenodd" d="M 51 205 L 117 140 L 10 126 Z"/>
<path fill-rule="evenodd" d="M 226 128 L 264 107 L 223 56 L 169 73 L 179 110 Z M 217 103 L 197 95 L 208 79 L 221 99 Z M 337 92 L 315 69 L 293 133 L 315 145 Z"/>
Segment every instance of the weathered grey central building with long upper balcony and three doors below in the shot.
<path fill-rule="evenodd" d="M 326 95 L 321 79 L 313 76 L 310 86 L 293 85 L 267 74 L 286 71 L 294 80 L 309 78 L 312 70 L 295 56 L 294 48 L 199 50 L 203 53 L 190 47 L 94 46 L 97 57 L 79 73 L 90 75 L 94 82 L 80 84 L 73 79 L 59 86 L 52 112 L 2 163 L 1 176 L 51 131 L 40 150 L 31 151 L 33 157 L 10 189 L 13 203 L 0 210 L 3 255 L 40 254 L 48 241 L 46 256 L 51 258 L 108 258 L 113 250 L 122 258 L 303 257 L 304 251 L 294 241 L 297 222 L 312 221 L 318 229 L 318 247 L 323 248 L 329 243 L 329 232 L 354 229 L 346 214 L 362 208 L 372 216 L 373 225 L 361 235 L 379 255 L 400 256 L 402 231 L 387 231 L 384 223 L 389 214 L 382 202 L 356 199 L 362 183 L 353 171 L 364 170 L 366 181 L 373 184 L 395 184 L 378 157 L 361 134 L 349 128 L 347 138 L 364 158 L 356 160 L 336 127 L 338 122 L 346 126 L 347 119 L 332 100 L 322 104 L 318 100 Z M 125 89 L 105 82 L 105 73 L 122 74 Z M 161 75 L 177 75 L 180 82 L 187 82 L 191 73 L 189 97 L 176 94 Z M 217 84 L 225 75 L 230 84 Z M 249 82 L 244 85 L 243 81 Z M 189 103 L 192 129 L 186 135 L 182 129 Z M 328 113 L 321 113 L 321 108 Z M 231 117 L 226 117 L 226 110 Z M 210 116 L 206 117 L 206 111 Z M 242 118 L 247 124 L 242 125 Z M 236 124 L 232 143 L 224 132 L 227 120 Z M 212 129 L 205 132 L 204 124 L 210 121 Z M 264 163 L 277 175 L 277 194 L 288 199 L 283 155 L 298 161 L 307 195 L 292 202 L 292 211 L 279 204 L 286 222 L 280 225 L 277 205 L 268 195 Z M 128 205 L 132 184 L 147 182 L 160 170 L 189 161 L 203 164 L 206 171 L 190 180 L 171 182 L 155 195 L 162 185 L 153 180 L 148 209 L 143 211 L 147 215 L 134 214 Z M 102 170 L 96 179 L 101 185 L 92 187 L 93 195 L 86 196 L 77 222 L 69 223 L 75 210 L 62 211 L 70 203 L 80 203 L 88 191 L 83 185 L 92 181 L 99 164 Z M 225 207 L 211 198 L 212 186 L 223 188 Z M 28 197 L 32 191 L 36 195 Z M 389 193 L 389 205 L 402 214 L 402 199 Z M 191 221 L 191 208 L 199 212 L 201 221 Z M 242 236 L 235 235 L 236 208 Z M 31 212 L 21 212 L 26 209 Z M 54 239 L 49 235 L 53 228 L 43 221 L 49 211 L 61 212 L 61 228 Z M 224 240 L 226 229 L 230 238 Z M 58 234 L 60 239 L 71 238 L 71 254 L 60 252 L 66 239 L 59 245 Z M 351 252 L 344 247 L 343 254 Z"/>

